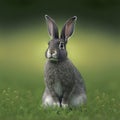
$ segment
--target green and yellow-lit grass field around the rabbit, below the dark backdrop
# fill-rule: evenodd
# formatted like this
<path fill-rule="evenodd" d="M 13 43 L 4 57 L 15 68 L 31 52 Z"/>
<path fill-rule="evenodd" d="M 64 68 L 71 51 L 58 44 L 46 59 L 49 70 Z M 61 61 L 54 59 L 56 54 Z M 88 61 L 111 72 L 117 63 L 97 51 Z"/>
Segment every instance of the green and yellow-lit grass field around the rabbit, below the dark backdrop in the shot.
<path fill-rule="evenodd" d="M 77 109 L 41 107 L 46 29 L 7 30 L 0 35 L 0 120 L 118 120 L 120 36 L 76 29 L 67 49 L 87 88 L 87 105 Z"/>

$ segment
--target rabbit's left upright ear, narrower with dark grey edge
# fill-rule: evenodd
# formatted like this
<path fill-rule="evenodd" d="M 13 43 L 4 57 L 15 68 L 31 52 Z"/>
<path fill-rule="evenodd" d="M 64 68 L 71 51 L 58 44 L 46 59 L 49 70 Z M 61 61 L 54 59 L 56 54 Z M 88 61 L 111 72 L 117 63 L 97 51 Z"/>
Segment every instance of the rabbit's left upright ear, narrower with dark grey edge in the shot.
<path fill-rule="evenodd" d="M 46 19 L 50 36 L 52 38 L 58 38 L 59 37 L 58 28 L 55 21 L 52 18 L 50 18 L 48 15 L 45 15 L 45 19 Z"/>

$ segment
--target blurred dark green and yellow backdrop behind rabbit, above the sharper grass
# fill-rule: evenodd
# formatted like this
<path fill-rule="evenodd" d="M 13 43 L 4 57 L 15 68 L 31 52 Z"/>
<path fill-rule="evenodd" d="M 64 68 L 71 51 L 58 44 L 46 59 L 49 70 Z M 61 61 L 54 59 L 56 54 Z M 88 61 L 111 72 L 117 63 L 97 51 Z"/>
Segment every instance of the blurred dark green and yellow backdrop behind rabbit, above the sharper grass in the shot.
<path fill-rule="evenodd" d="M 95 91 L 119 99 L 119 0 L 1 0 L 0 90 L 30 90 L 41 100 L 44 53 L 50 39 L 45 14 L 55 19 L 60 30 L 69 17 L 78 17 L 67 50 L 85 79 L 88 103 Z"/>

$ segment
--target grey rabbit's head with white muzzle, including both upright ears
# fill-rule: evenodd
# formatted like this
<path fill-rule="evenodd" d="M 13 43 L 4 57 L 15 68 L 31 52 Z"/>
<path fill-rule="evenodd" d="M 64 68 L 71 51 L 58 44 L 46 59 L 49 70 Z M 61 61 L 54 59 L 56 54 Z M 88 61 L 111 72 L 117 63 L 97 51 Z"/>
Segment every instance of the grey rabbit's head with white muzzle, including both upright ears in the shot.
<path fill-rule="evenodd" d="M 74 16 L 66 21 L 61 31 L 60 37 L 55 21 L 48 15 L 45 15 L 45 19 L 48 26 L 48 32 L 52 38 L 48 43 L 45 56 L 53 62 L 63 61 L 67 58 L 66 44 L 68 38 L 74 31 L 74 25 L 77 17 Z"/>

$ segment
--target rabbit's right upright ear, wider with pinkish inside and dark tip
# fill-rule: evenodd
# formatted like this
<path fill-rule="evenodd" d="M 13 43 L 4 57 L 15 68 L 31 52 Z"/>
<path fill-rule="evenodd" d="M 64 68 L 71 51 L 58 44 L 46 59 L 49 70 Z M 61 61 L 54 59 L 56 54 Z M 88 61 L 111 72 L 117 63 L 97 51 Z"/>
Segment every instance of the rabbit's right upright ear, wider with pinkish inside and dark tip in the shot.
<path fill-rule="evenodd" d="M 62 39 L 67 40 L 72 35 L 76 20 L 77 20 L 77 17 L 73 16 L 72 18 L 66 21 L 61 32 Z"/>

